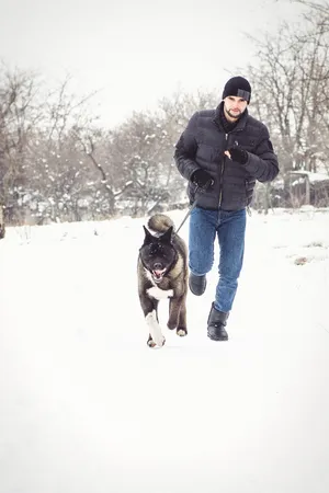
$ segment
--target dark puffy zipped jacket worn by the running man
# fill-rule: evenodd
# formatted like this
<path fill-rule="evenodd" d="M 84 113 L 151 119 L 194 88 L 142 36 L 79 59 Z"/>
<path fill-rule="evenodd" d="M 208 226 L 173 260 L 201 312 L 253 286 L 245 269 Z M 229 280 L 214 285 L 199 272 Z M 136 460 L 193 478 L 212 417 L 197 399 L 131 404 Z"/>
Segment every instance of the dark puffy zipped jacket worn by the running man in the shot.
<path fill-rule="evenodd" d="M 277 158 L 268 128 L 250 116 L 248 110 L 229 134 L 225 134 L 219 112 L 220 105 L 192 116 L 175 146 L 174 160 L 181 175 L 189 180 L 191 204 L 196 198 L 197 206 L 205 209 L 239 210 L 251 203 L 256 180 L 270 182 L 275 179 Z M 246 164 L 224 154 L 234 145 L 248 151 Z M 214 179 L 214 185 L 206 192 L 196 190 L 190 181 L 198 168 Z"/>

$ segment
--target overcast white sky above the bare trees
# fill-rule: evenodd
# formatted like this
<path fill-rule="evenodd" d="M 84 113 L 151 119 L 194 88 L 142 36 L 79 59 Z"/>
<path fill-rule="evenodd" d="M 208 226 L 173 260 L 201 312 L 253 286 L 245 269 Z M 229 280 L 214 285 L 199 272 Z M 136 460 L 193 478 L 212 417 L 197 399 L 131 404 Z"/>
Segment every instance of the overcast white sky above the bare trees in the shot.
<path fill-rule="evenodd" d="M 222 91 L 252 55 L 243 32 L 275 30 L 298 11 L 288 0 L 1 0 L 0 58 L 100 90 L 112 125 L 179 85 Z"/>

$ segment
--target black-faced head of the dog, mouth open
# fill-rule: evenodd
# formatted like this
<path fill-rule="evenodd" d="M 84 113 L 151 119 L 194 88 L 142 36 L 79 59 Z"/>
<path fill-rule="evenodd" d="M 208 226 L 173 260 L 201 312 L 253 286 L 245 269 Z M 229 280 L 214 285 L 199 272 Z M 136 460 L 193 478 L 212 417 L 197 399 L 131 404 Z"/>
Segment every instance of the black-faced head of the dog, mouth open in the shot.
<path fill-rule="evenodd" d="M 177 251 L 172 244 L 172 227 L 160 236 L 152 236 L 145 228 L 145 239 L 139 255 L 144 267 L 151 274 L 155 283 L 160 283 L 173 265 Z"/>

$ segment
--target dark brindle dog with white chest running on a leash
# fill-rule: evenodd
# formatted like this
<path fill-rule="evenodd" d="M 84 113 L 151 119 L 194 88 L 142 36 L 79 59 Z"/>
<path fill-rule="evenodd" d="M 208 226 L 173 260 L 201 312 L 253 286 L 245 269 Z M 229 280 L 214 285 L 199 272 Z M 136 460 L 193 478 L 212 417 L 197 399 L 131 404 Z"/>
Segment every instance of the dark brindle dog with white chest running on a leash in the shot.
<path fill-rule="evenodd" d="M 161 299 L 169 298 L 168 329 L 175 329 L 180 336 L 188 334 L 188 248 L 164 214 L 155 214 L 148 220 L 148 229 L 143 228 L 145 239 L 137 264 L 138 295 L 149 331 L 147 344 L 161 347 L 166 342 L 158 318 Z"/>

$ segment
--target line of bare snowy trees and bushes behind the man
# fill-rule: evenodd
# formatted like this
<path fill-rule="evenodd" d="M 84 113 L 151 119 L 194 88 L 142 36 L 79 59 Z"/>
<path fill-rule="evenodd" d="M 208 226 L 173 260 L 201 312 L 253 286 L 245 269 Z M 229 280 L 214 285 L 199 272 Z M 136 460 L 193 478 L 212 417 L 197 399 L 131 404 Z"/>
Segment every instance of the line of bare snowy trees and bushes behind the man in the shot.
<path fill-rule="evenodd" d="M 329 206 L 328 186 L 303 172 L 329 170 L 329 4 L 304 2 L 303 28 L 282 25 L 254 39 L 250 113 L 270 129 L 281 173 L 257 187 L 254 207 Z M 237 71 L 235 71 L 237 73 Z M 155 112 L 100 126 L 93 94 L 77 99 L 70 79 L 47 91 L 32 71 L 0 71 L 0 203 L 7 223 L 109 218 L 185 207 L 174 144 L 192 114 L 219 103 L 222 88 L 179 92 Z M 300 180 L 291 180 L 300 171 Z M 298 186 L 296 187 L 296 183 Z M 303 192 L 303 190 L 305 191 Z M 311 192 L 313 191 L 313 192 Z M 296 192 L 296 193 L 295 193 Z M 320 198 L 319 198 L 320 197 Z"/>

